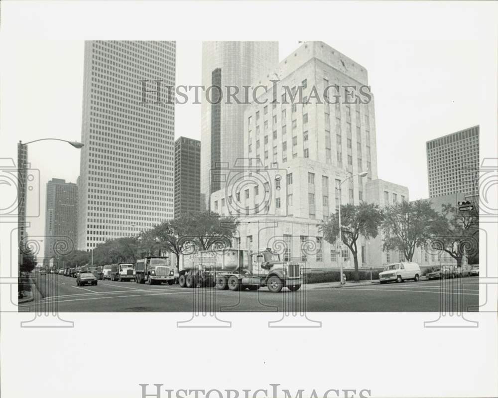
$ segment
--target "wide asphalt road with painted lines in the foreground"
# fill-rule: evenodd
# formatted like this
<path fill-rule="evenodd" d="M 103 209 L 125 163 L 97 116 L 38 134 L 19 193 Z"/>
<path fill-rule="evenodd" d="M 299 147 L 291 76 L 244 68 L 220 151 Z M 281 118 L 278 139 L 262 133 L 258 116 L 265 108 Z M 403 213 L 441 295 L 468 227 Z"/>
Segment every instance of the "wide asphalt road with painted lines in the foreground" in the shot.
<path fill-rule="evenodd" d="M 476 310 L 479 278 L 406 281 L 388 284 L 351 284 L 347 287 L 305 285 L 297 292 L 286 288 L 270 293 L 234 292 L 178 285 L 142 285 L 99 280 L 97 286 L 77 286 L 63 275 L 36 275 L 43 299 L 30 311 L 58 312 L 454 312 Z M 469 308 L 474 307 L 474 308 Z"/>

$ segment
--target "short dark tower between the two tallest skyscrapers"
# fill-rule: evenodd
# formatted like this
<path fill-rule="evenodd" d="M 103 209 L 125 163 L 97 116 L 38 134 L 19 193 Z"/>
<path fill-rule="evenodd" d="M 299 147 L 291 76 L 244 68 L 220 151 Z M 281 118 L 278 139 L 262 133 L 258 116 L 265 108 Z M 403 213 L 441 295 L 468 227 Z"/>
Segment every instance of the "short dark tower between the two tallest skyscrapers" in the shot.
<path fill-rule="evenodd" d="M 201 210 L 201 141 L 175 141 L 175 218 Z"/>

